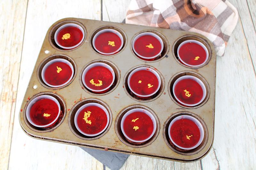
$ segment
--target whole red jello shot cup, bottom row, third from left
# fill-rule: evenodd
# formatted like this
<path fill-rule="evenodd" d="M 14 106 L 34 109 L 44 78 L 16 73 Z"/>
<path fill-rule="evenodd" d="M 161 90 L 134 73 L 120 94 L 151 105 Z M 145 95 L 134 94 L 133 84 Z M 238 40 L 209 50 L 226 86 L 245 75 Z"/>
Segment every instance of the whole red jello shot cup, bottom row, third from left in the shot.
<path fill-rule="evenodd" d="M 124 137 L 132 142 L 146 142 L 156 132 L 156 119 L 147 110 L 135 108 L 124 114 L 121 130 Z"/>

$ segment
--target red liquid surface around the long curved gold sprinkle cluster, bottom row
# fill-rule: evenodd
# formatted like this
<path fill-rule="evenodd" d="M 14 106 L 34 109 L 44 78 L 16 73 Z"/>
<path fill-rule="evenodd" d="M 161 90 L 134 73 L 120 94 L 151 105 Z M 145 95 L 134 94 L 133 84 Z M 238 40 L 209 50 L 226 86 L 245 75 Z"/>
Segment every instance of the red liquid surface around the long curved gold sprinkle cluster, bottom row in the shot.
<path fill-rule="evenodd" d="M 84 118 L 84 112 L 92 112 L 90 117 L 87 118 L 91 121 L 91 124 L 86 123 Z M 77 116 L 77 125 L 79 129 L 86 134 L 97 134 L 101 132 L 108 123 L 108 117 L 103 109 L 97 106 L 88 106 L 82 109 Z"/>

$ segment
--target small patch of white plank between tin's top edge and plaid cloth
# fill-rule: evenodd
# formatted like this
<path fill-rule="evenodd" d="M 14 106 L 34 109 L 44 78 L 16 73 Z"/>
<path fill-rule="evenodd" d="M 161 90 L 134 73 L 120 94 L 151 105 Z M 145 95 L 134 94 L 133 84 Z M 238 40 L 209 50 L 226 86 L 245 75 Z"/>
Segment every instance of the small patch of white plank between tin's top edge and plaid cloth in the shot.
<path fill-rule="evenodd" d="M 131 0 L 102 0 L 102 20 L 122 22 Z"/>

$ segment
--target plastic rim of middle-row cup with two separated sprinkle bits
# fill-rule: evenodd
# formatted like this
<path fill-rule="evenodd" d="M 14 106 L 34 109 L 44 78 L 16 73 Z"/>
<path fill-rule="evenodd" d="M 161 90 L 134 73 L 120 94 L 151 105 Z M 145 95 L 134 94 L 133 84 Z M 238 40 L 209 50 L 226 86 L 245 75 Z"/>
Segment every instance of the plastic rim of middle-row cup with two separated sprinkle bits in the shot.
<path fill-rule="evenodd" d="M 155 92 L 153 92 L 153 93 L 151 93 L 151 94 L 148 94 L 148 95 L 141 95 L 141 94 L 138 94 L 138 93 L 136 93 L 136 92 L 134 92 L 134 91 L 132 90 L 132 88 L 131 88 L 131 86 L 130 86 L 130 79 L 131 79 L 131 77 L 132 77 L 132 74 L 134 74 L 135 72 L 140 71 L 140 70 L 151 71 L 151 72 L 156 76 L 156 78 L 157 78 L 157 80 L 158 80 L 158 87 L 157 87 L 157 89 L 156 89 Z M 156 70 L 154 70 L 154 69 L 152 69 L 152 68 L 149 68 L 149 67 L 139 67 L 139 68 L 136 68 L 136 69 L 132 70 L 132 72 L 129 74 L 128 79 L 127 79 L 127 84 L 128 84 L 129 89 L 130 89 L 135 95 L 140 96 L 140 97 L 150 97 L 150 96 L 156 94 L 156 92 L 158 92 L 158 90 L 160 89 L 161 83 L 162 83 L 162 82 L 161 82 L 160 75 L 156 72 Z"/>

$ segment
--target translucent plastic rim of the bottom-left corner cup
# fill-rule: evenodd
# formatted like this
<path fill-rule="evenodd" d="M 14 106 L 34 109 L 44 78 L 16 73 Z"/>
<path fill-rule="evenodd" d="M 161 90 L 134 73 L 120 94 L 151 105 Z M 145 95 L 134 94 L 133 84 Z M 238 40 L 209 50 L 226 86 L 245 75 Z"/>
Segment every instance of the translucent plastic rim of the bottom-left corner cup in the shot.
<path fill-rule="evenodd" d="M 51 100 L 53 100 L 53 101 L 57 104 L 57 106 L 58 106 L 58 108 L 59 108 L 59 112 L 58 112 L 57 117 L 56 117 L 51 123 L 48 123 L 48 124 L 46 124 L 46 125 L 36 125 L 36 124 L 31 120 L 31 118 L 30 118 L 30 109 L 31 109 L 31 107 L 32 107 L 37 101 L 39 101 L 39 100 L 41 100 L 41 99 L 51 99 Z M 38 128 L 45 128 L 45 127 L 51 126 L 54 122 L 56 122 L 56 121 L 58 120 L 59 116 L 60 116 L 60 103 L 59 103 L 59 101 L 58 101 L 55 97 L 50 96 L 50 95 L 40 95 L 40 96 L 35 97 L 35 98 L 32 99 L 31 101 L 29 101 L 28 106 L 27 106 L 27 108 L 26 108 L 26 117 L 27 117 L 27 119 L 28 119 L 28 122 L 29 122 L 30 124 L 32 124 L 33 126 L 36 126 L 36 127 L 38 127 Z"/>

